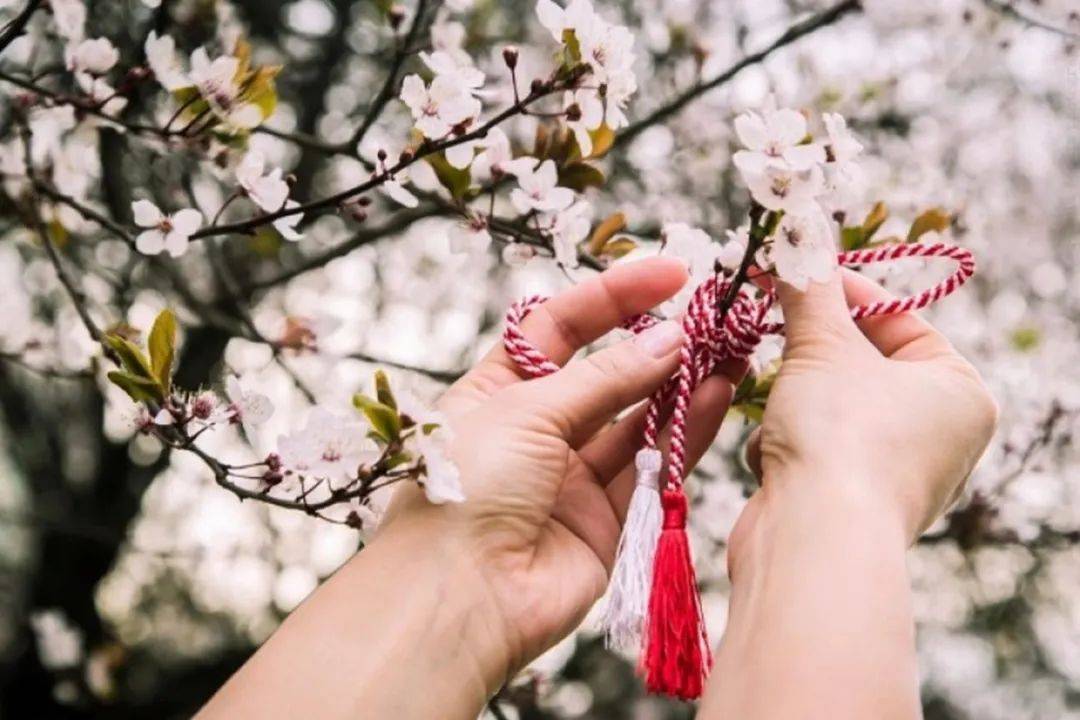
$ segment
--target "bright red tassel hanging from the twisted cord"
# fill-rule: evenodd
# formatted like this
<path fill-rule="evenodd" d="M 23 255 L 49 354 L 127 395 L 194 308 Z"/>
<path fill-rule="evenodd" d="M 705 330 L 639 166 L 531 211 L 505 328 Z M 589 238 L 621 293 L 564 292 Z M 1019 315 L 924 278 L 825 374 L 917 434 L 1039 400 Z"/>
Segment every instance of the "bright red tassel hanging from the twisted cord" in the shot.
<path fill-rule="evenodd" d="M 713 654 L 686 538 L 687 501 L 683 489 L 664 489 L 661 504 L 664 527 L 652 565 L 642 671 L 649 692 L 694 699 L 701 696 Z"/>

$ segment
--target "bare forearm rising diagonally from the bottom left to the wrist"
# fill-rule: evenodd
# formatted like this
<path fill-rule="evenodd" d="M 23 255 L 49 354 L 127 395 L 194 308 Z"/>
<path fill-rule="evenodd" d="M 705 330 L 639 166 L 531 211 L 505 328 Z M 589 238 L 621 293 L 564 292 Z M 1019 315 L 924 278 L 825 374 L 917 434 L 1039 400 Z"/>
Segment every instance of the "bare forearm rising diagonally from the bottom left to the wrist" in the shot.
<path fill-rule="evenodd" d="M 388 528 L 298 608 L 204 718 L 468 718 L 504 667 L 472 570 L 440 538 Z"/>

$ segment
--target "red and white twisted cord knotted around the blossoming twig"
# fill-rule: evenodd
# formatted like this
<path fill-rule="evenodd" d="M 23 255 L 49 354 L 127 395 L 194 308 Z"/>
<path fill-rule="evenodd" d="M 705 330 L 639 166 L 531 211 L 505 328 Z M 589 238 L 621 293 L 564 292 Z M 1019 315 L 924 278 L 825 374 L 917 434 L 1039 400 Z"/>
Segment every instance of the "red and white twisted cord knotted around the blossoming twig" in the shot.
<path fill-rule="evenodd" d="M 851 317 L 862 320 L 875 315 L 895 315 L 926 308 L 963 285 L 975 272 L 975 259 L 970 250 L 942 243 L 885 245 L 840 253 L 837 257 L 838 263 L 849 267 L 902 258 L 934 257 L 956 260 L 959 267 L 951 275 L 917 295 L 854 307 L 851 309 Z M 685 338 L 679 350 L 678 372 L 649 400 L 644 445 L 647 448 L 656 448 L 660 433 L 661 407 L 674 397 L 671 450 L 667 458 L 669 489 L 680 486 L 685 477 L 686 422 L 690 396 L 694 389 L 719 363 L 729 358 L 744 359 L 754 352 L 762 336 L 779 335 L 784 330 L 783 323 L 766 322 L 766 315 L 775 299 L 772 293 L 764 293 L 755 298 L 746 288 L 741 288 L 728 312 L 723 318 L 717 317 L 719 299 L 727 295 L 729 288 L 730 281 L 712 276 L 694 290 L 683 315 Z M 546 298 L 531 296 L 511 305 L 502 335 L 507 353 L 526 375 L 532 378 L 541 378 L 559 369 L 558 365 L 551 362 L 525 337 L 521 327 L 529 312 L 544 300 Z M 637 334 L 658 322 L 652 315 L 642 314 L 627 320 L 623 327 Z"/>

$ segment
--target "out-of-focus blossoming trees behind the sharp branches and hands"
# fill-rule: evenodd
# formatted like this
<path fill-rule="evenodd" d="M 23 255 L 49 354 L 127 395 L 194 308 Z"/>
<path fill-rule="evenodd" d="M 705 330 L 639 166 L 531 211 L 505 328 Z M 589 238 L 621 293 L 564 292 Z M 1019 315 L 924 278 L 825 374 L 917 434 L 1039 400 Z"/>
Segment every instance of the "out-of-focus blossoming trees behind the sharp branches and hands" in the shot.
<path fill-rule="evenodd" d="M 0 0 L 0 25 L 24 4 Z M 386 3 L 375 1 L 86 4 L 93 35 L 110 38 L 132 60 L 150 27 L 188 50 L 222 28 L 242 33 L 258 62 L 284 66 L 269 126 L 326 142 L 350 136 L 392 56 Z M 832 6 L 595 4 L 637 38 L 632 121 Z M 928 209 L 948 218 L 935 232 L 974 250 L 980 272 L 928 315 L 980 368 L 1002 411 L 964 497 L 910 552 L 926 716 L 1080 718 L 1080 453 L 1074 439 L 1080 429 L 1080 4 L 841 4 L 840 16 L 619 146 L 604 159 L 607 181 L 590 200 L 598 217 L 621 210 L 642 235 L 680 220 L 723 239 L 747 208 L 730 165 L 731 120 L 772 95 L 781 106 L 849 119 L 867 148 L 869 188 L 860 212 L 875 201 L 887 205 L 881 236 L 904 235 Z M 415 5 L 403 0 L 402 8 L 410 16 Z M 50 22 L 44 12 L 32 17 L 29 39 L 48 43 Z M 522 47 L 523 76 L 550 64 L 550 39 L 528 0 L 446 2 L 430 22 L 434 32 L 460 33 L 489 78 L 505 74 L 500 53 L 508 42 Z M 23 67 L 26 44 L 0 56 L 0 69 Z M 15 89 L 0 83 L 4 132 L 15 101 Z M 531 137 L 535 122 L 523 119 L 510 128 L 515 142 Z M 392 101 L 362 152 L 400 148 L 409 124 L 407 111 Z M 121 218 L 133 189 L 166 192 L 186 162 L 108 128 L 79 141 L 72 172 Z M 251 145 L 295 175 L 296 198 L 366 177 L 355 158 L 327 157 L 273 134 L 255 134 Z M 206 195 L 206 207 L 219 204 L 214 192 L 194 188 L 197 198 Z M 122 243 L 81 218 L 60 209 L 57 217 L 69 243 L 81 244 L 69 249 L 91 269 L 80 287 L 97 311 L 146 328 L 160 309 L 176 309 L 184 327 L 178 382 L 219 384 L 228 367 L 271 396 L 276 411 L 253 438 L 255 449 L 230 433 L 205 438 L 210 451 L 240 462 L 265 454 L 278 434 L 297 424 L 309 403 L 293 376 L 320 399 L 341 403 L 375 365 L 389 366 L 396 385 L 434 397 L 496 341 L 512 299 L 569 282 L 550 262 L 510 268 L 494 249 L 483 257 L 450 254 L 453 221 L 426 208 L 405 212 L 379 201 L 360 231 L 348 218 L 326 215 L 296 246 L 230 243 L 234 274 L 256 286 L 246 300 L 257 326 L 272 334 L 287 318 L 302 317 L 320 328 L 318 352 L 282 362 L 266 344 L 208 320 L 211 311 L 229 312 L 234 298 L 215 285 L 201 253 L 177 260 L 166 276 L 133 267 Z M 316 267 L 300 272 L 312 258 Z M 283 279 L 282 270 L 296 272 Z M 924 286 L 940 271 L 905 264 L 878 276 L 903 290 Z M 135 435 L 132 404 L 104 382 L 91 359 L 94 343 L 40 245 L 4 204 L 0 287 L 0 717 L 188 717 L 362 536 L 300 513 L 239 502 L 214 485 L 198 459 L 163 452 Z M 732 415 L 691 483 L 694 553 L 714 638 L 727 603 L 725 540 L 753 488 L 740 461 L 748 430 Z M 586 622 L 523 673 L 490 712 L 523 720 L 692 715 L 689 706 L 645 697 L 632 662 L 605 650 Z"/>

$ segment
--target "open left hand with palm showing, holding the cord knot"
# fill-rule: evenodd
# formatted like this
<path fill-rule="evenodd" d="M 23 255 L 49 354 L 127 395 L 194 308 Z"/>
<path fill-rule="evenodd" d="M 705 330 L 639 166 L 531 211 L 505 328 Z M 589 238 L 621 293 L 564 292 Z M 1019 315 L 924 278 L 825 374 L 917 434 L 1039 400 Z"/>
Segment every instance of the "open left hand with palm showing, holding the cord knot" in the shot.
<path fill-rule="evenodd" d="M 620 266 L 536 308 L 523 330 L 564 364 L 686 280 L 677 260 Z M 644 407 L 609 421 L 673 375 L 681 337 L 677 323 L 662 323 L 537 380 L 523 380 L 500 344 L 443 396 L 467 500 L 433 506 L 418 489 L 403 488 L 372 549 L 383 538 L 415 532 L 462 558 L 457 590 L 497 619 L 495 636 L 504 640 L 477 651 L 489 691 L 572 630 L 603 594 L 634 487 Z M 725 377 L 696 393 L 691 464 L 712 441 L 731 394 Z"/>

